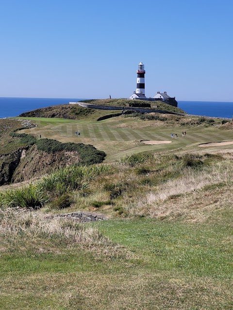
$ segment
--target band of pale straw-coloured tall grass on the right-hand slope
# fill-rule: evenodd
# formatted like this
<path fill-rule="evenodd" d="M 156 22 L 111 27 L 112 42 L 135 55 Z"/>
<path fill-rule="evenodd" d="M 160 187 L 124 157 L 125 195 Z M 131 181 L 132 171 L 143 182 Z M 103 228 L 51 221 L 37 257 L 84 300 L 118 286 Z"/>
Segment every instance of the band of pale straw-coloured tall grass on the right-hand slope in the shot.
<path fill-rule="evenodd" d="M 144 195 L 134 194 L 133 201 L 129 200 L 125 208 L 130 215 L 157 215 L 157 211 L 163 210 L 164 202 L 171 196 L 181 197 L 188 193 L 206 190 L 207 186 L 213 184 L 222 186 L 224 183 L 224 185 L 231 186 L 232 180 L 233 163 L 230 160 L 216 162 L 214 167 L 205 167 L 202 170 L 187 167 L 178 178 L 156 186 Z"/>

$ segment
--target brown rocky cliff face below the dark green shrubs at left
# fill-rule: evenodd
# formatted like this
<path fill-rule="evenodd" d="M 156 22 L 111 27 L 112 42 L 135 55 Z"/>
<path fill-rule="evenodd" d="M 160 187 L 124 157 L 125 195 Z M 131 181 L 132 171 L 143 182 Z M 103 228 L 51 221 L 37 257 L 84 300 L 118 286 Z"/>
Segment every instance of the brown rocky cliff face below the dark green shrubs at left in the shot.
<path fill-rule="evenodd" d="M 40 177 L 55 168 L 80 162 L 77 152 L 61 151 L 48 154 L 38 151 L 36 145 L 18 149 L 0 158 L 0 185 L 17 183 Z"/>

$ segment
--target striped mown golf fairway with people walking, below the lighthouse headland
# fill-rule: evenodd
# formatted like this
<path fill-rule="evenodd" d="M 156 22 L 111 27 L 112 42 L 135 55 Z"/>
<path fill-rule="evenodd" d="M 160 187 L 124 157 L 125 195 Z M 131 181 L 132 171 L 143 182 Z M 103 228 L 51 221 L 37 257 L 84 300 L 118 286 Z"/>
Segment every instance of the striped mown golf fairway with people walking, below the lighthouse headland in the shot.
<path fill-rule="evenodd" d="M 31 119 L 31 118 L 30 118 Z M 36 128 L 23 132 L 42 138 L 56 139 L 61 142 L 82 142 L 94 145 L 104 151 L 106 161 L 119 159 L 125 155 L 140 152 L 170 152 L 200 150 L 198 145 L 206 142 L 232 140 L 231 130 L 220 130 L 216 126 L 194 126 L 186 128 L 177 124 L 153 126 L 153 121 L 142 121 L 135 118 L 116 117 L 113 119 L 95 121 L 77 121 L 67 119 L 32 118 L 38 124 Z M 81 136 L 75 137 L 75 131 Z M 182 137 L 182 131 L 187 135 Z M 171 133 L 178 134 L 171 140 Z M 170 140 L 169 144 L 146 145 L 140 140 Z M 229 145 L 228 148 L 232 148 Z M 205 150 L 220 150 L 219 147 L 206 147 Z"/>

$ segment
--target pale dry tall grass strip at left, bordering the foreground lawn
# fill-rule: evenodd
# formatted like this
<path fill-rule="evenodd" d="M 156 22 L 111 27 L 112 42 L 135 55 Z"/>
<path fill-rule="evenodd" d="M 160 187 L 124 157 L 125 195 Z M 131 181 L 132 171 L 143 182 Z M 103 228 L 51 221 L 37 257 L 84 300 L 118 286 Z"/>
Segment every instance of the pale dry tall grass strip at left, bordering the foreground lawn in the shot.
<path fill-rule="evenodd" d="M 40 243 L 40 240 L 48 242 L 50 238 L 59 240 L 61 247 L 60 241 L 70 247 L 78 244 L 91 251 L 98 259 L 100 256 L 107 260 L 122 257 L 125 259 L 131 255 L 125 248 L 111 242 L 97 228 L 63 217 L 48 216 L 40 211 L 17 208 L 0 210 L 0 236 L 4 237 L 9 247 L 18 240 L 25 241 L 25 247 L 32 247 L 34 243 Z"/>

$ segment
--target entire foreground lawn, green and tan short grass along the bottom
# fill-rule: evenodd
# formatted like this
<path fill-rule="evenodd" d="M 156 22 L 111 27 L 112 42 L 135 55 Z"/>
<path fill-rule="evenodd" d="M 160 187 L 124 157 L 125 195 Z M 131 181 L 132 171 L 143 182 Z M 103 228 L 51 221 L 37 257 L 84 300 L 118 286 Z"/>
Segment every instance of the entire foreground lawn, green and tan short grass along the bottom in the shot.
<path fill-rule="evenodd" d="M 230 225 L 142 218 L 94 226 L 120 247 L 3 238 L 0 309 L 233 308 Z"/>

